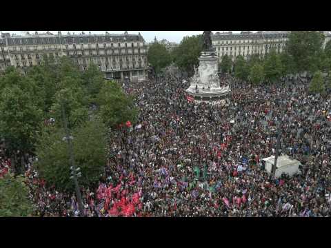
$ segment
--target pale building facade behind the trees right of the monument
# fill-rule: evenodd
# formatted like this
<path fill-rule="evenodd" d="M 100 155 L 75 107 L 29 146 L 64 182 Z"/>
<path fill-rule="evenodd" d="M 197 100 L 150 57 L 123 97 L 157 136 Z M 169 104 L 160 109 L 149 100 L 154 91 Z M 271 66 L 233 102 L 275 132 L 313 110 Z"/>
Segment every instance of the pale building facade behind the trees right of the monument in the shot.
<path fill-rule="evenodd" d="M 288 31 L 242 31 L 240 34 L 232 32 L 216 32 L 212 34 L 212 44 L 216 48 L 219 61 L 225 54 L 235 59 L 242 55 L 248 59 L 252 54 L 266 54 L 275 49 L 282 52 L 288 39 Z"/>

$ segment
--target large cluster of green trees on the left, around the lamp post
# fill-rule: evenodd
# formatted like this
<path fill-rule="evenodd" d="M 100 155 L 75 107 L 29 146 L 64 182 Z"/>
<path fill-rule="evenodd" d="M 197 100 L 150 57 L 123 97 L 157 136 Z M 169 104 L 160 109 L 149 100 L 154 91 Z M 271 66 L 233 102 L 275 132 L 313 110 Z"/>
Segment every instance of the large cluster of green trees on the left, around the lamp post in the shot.
<path fill-rule="evenodd" d="M 59 63 L 52 57 L 44 57 L 43 64 L 30 68 L 27 74 L 8 68 L 0 76 L 0 88 L 0 138 L 5 141 L 6 156 L 14 171 L 14 175 L 0 179 L 4 197 L 0 198 L 1 203 L 10 202 L 7 198 L 15 196 L 12 187 L 21 187 L 25 194 L 26 189 L 17 176 L 23 174 L 26 155 L 37 156 L 34 169 L 48 186 L 72 191 L 68 147 L 63 139 L 66 136 L 63 113 L 73 137 L 74 163 L 81 168 L 79 183 L 84 186 L 97 183 L 104 172 L 108 130 L 126 121 L 132 124 L 137 121 L 134 99 L 119 84 L 106 81 L 94 64 L 80 72 L 66 57 Z M 16 184 L 2 187 L 6 180 Z M 12 198 L 12 202 L 16 204 L 17 199 Z M 26 216 L 27 208 L 24 209 L 9 211 L 6 207 L 1 212 L 0 207 L 0 215 L 20 211 Z"/>

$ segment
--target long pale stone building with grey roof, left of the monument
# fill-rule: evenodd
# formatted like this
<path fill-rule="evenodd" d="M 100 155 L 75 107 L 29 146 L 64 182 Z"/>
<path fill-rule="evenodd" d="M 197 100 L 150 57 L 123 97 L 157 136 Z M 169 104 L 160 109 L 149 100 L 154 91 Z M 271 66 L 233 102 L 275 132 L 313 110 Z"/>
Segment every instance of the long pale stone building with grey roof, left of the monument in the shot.
<path fill-rule="evenodd" d="M 107 79 L 148 80 L 147 45 L 141 34 L 26 34 L 1 33 L 0 70 L 40 65 L 43 56 L 68 56 L 81 70 L 99 66 Z"/>

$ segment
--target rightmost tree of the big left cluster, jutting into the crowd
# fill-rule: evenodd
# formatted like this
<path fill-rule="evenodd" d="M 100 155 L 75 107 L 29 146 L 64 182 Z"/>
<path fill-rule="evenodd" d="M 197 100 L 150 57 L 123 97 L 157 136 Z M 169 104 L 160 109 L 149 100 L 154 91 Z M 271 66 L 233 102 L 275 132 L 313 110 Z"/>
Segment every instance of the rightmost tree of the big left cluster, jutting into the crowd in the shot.
<path fill-rule="evenodd" d="M 107 127 L 116 127 L 126 121 L 136 123 L 138 110 L 134 107 L 134 99 L 127 96 L 118 83 L 107 81 L 98 99 L 99 114 Z"/>

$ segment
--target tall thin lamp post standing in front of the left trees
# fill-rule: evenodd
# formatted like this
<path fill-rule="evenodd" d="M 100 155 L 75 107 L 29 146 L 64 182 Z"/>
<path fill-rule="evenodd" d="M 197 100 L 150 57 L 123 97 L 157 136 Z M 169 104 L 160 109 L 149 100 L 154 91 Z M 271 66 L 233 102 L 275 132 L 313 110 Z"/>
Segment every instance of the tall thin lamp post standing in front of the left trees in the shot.
<path fill-rule="evenodd" d="M 68 123 L 67 123 L 67 118 L 66 118 L 66 114 L 64 111 L 64 107 L 63 107 L 63 102 L 61 102 L 61 112 L 62 112 L 62 117 L 63 117 L 63 123 L 64 123 L 64 129 L 66 130 L 66 137 L 63 138 L 63 141 L 67 141 L 68 142 L 68 147 L 69 147 L 69 154 L 70 154 L 70 164 L 71 164 L 71 175 L 70 179 L 74 180 L 74 187 L 76 189 L 76 194 L 77 194 L 77 200 L 78 200 L 78 207 L 79 207 L 79 212 L 81 217 L 85 216 L 85 212 L 84 212 L 84 207 L 83 207 L 83 201 L 81 199 L 81 191 L 79 190 L 79 184 L 78 184 L 78 180 L 77 178 L 81 176 L 81 172 L 80 168 L 76 168 L 74 166 L 74 149 L 72 147 L 72 139 L 73 137 L 70 136 L 70 132 L 68 129 Z"/>

